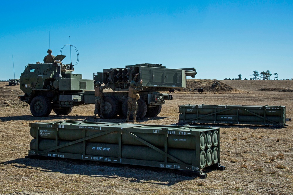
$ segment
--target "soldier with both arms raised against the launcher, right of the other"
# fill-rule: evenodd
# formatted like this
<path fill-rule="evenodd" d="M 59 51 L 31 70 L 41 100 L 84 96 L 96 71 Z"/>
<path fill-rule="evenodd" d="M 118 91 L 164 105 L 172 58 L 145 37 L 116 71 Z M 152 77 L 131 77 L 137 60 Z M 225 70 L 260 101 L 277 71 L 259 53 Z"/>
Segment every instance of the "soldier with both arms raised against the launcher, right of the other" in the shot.
<path fill-rule="evenodd" d="M 127 117 L 126 122 L 129 122 L 129 117 L 132 114 L 133 122 L 136 122 L 136 111 L 137 111 L 137 100 L 136 95 L 139 91 L 143 89 L 142 79 L 140 80 L 140 87 L 135 87 L 135 80 L 138 76 L 138 73 L 135 75 L 134 79 L 130 82 L 130 87 L 128 91 L 128 100 L 127 100 Z"/>

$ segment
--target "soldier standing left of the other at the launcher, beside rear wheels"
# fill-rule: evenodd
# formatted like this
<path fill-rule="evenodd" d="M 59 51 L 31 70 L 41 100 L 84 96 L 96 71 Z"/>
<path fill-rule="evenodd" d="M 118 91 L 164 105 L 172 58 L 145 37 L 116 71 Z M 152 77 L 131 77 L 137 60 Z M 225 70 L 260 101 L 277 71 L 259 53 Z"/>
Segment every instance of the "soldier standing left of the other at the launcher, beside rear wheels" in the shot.
<path fill-rule="evenodd" d="M 104 111 L 105 111 L 105 103 L 103 99 L 103 89 L 107 88 L 109 85 L 109 82 L 105 84 L 104 86 L 101 86 L 100 82 L 93 82 L 94 89 L 95 89 L 95 111 L 94 111 L 94 119 L 97 119 L 97 114 L 99 111 L 99 108 L 101 109 L 101 115 L 100 118 L 104 119 Z M 98 85 L 98 86 L 97 86 Z"/>

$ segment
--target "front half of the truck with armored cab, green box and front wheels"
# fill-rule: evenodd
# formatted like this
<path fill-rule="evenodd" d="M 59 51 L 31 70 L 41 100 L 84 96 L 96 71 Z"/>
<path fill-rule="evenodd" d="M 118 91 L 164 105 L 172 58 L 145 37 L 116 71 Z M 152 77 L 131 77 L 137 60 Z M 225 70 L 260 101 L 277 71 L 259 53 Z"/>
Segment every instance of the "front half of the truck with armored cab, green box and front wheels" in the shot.
<path fill-rule="evenodd" d="M 57 115 L 67 115 L 72 106 L 83 103 L 85 90 L 93 90 L 93 80 L 73 74 L 72 65 L 63 65 L 65 56 L 58 55 L 53 63 L 28 64 L 20 77 L 21 101 L 30 104 L 33 116 L 47 117 L 52 109 Z"/>

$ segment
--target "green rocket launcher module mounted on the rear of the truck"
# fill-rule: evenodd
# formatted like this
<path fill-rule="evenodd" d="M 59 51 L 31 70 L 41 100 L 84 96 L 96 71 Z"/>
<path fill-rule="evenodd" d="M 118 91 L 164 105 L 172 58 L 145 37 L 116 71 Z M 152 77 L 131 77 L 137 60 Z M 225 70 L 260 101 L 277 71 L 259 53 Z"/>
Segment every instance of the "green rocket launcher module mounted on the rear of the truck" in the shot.
<path fill-rule="evenodd" d="M 145 91 L 154 91 L 155 89 L 169 90 L 170 88 L 186 88 L 186 76 L 196 75 L 195 68 L 169 69 L 160 64 L 136 64 L 129 65 L 125 68 L 104 69 L 101 73 L 94 73 L 94 80 L 104 83 L 110 82 L 109 87 L 113 91 L 127 91 L 130 82 L 135 75 L 137 77 L 137 85 L 140 79 L 143 80 Z"/>

